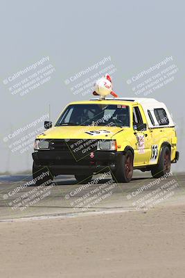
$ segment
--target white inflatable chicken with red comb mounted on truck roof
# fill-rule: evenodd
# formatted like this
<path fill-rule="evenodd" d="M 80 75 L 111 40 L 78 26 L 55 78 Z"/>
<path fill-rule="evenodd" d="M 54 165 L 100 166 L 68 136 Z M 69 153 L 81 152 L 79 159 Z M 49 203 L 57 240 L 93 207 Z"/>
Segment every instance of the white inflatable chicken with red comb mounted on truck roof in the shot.
<path fill-rule="evenodd" d="M 112 90 L 112 79 L 109 74 L 101 77 L 94 84 L 93 95 L 99 95 L 100 99 L 105 99 L 107 95 L 112 95 L 113 97 L 118 97 L 116 93 Z"/>

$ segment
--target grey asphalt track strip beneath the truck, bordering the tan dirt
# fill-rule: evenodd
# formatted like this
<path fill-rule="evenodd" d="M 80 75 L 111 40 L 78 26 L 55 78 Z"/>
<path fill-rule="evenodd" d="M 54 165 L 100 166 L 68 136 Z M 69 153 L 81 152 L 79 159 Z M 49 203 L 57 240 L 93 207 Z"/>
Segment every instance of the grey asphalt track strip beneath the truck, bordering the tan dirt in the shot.
<path fill-rule="evenodd" d="M 185 174 L 153 179 L 150 173 L 136 173 L 130 183 L 116 183 L 110 176 L 87 186 L 73 176 L 60 176 L 43 188 L 26 186 L 30 176 L 0 176 L 0 222 L 94 213 L 147 211 L 164 204 L 184 204 Z M 18 189 L 17 189 L 18 188 Z"/>

